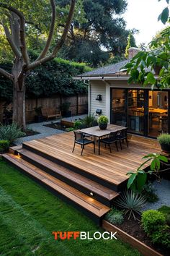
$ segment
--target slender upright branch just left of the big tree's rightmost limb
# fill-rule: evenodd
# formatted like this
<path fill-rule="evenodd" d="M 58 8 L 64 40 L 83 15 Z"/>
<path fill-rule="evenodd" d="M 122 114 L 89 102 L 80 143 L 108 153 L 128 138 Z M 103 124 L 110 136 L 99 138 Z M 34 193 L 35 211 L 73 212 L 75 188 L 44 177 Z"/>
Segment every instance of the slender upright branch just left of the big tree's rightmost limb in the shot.
<path fill-rule="evenodd" d="M 49 34 L 48 34 L 48 40 L 47 40 L 47 42 L 45 44 L 45 47 L 43 48 L 40 56 L 36 59 L 36 61 L 39 61 L 40 59 L 45 57 L 45 55 L 48 52 L 48 49 L 50 48 L 51 40 L 53 39 L 53 33 L 54 33 L 54 28 L 55 28 L 55 17 L 56 17 L 55 1 L 50 0 L 50 5 L 51 5 L 51 8 L 52 8 L 52 17 L 51 17 L 50 31 L 49 31 Z"/>

